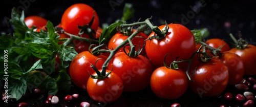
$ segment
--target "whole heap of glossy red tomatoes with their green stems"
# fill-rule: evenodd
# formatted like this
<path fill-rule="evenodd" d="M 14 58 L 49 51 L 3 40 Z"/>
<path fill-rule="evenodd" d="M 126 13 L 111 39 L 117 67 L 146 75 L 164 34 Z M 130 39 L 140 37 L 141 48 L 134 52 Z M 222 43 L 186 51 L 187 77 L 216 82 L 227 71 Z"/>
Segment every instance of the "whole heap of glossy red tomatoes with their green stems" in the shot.
<path fill-rule="evenodd" d="M 47 30 L 44 27 L 47 20 L 42 17 L 26 17 L 25 23 L 30 28 Z M 70 6 L 57 28 L 94 40 L 102 36 L 98 15 L 86 4 Z M 93 54 L 89 49 L 92 45 L 97 46 L 97 42 L 74 40 L 78 55 L 69 67 L 72 82 L 87 90 L 98 102 L 115 101 L 122 92 L 140 91 L 148 85 L 158 97 L 172 100 L 182 96 L 188 88 L 199 96 L 218 96 L 227 85 L 256 74 L 253 70 L 256 47 L 241 39 L 237 47 L 231 49 L 219 38 L 196 42 L 195 35 L 180 24 L 161 25 L 155 29 L 158 30 L 150 35 L 139 32 L 132 42 L 116 51 L 114 49 L 137 30 L 117 32 L 105 48 L 99 49 L 101 54 Z M 58 34 L 60 39 L 70 37 L 63 32 Z M 135 55 L 130 54 L 132 46 Z"/>

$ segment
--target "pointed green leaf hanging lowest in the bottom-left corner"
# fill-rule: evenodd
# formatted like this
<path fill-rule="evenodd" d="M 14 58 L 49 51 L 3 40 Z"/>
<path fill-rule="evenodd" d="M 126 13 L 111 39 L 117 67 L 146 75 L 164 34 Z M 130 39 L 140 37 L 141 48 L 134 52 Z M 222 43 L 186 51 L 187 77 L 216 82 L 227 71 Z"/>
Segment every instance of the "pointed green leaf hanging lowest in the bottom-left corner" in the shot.
<path fill-rule="evenodd" d="M 16 100 L 19 100 L 22 98 L 22 96 L 26 93 L 27 90 L 27 82 L 25 79 L 13 79 L 8 78 L 8 92 L 9 92 L 9 98 L 15 98 Z"/>

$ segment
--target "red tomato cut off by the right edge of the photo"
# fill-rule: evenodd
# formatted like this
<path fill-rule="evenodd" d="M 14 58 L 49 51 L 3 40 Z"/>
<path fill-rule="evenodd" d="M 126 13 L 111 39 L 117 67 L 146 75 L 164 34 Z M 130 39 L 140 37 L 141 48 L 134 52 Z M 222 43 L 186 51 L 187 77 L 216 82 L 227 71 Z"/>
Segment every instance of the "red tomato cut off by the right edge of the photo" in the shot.
<path fill-rule="evenodd" d="M 253 45 L 248 45 L 244 49 L 232 48 L 230 52 L 238 54 L 244 62 L 244 75 L 255 75 L 256 70 L 254 70 L 256 63 L 256 47 Z"/>

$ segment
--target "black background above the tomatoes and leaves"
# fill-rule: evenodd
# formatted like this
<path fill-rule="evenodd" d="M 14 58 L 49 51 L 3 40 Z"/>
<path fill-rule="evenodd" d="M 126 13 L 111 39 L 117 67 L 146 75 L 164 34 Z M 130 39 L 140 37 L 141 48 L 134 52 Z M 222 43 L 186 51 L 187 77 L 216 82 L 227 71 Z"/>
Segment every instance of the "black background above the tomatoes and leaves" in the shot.
<path fill-rule="evenodd" d="M 22 2 L 25 3 L 23 5 Z M 193 12 L 191 7 L 198 6 L 198 1 L 157 1 L 157 0 L 108 0 L 108 1 L 68 1 L 68 0 L 20 0 L 20 1 L 1 1 L 0 2 L 0 32 L 10 33 L 8 19 L 11 17 L 11 9 L 17 8 L 19 11 L 24 10 L 25 16 L 39 15 L 50 20 L 54 25 L 58 25 L 61 20 L 62 13 L 69 6 L 75 3 L 86 3 L 92 6 L 98 13 L 100 26 L 102 23 L 111 24 L 122 16 L 122 9 L 125 3 L 132 3 L 135 8 L 135 15 L 128 22 L 136 22 L 140 18 L 144 20 L 153 16 L 154 25 L 167 23 L 180 23 L 192 29 L 208 28 L 210 36 L 208 38 L 223 38 L 230 41 L 228 34 L 232 33 L 238 37 L 238 31 L 250 44 L 256 44 L 256 1 L 252 0 L 236 0 L 236 1 L 214 1 L 201 0 L 204 7 L 200 7 L 197 13 Z M 116 3 L 111 6 L 110 2 Z M 188 14 L 187 14 L 188 13 Z M 189 18 L 190 15 L 191 17 Z M 193 17 L 194 15 L 194 17 Z M 182 22 L 182 18 L 188 17 Z M 183 19 L 184 20 L 184 19 Z M 230 44 L 230 42 L 228 42 Z"/>

